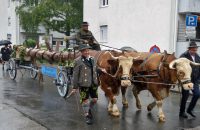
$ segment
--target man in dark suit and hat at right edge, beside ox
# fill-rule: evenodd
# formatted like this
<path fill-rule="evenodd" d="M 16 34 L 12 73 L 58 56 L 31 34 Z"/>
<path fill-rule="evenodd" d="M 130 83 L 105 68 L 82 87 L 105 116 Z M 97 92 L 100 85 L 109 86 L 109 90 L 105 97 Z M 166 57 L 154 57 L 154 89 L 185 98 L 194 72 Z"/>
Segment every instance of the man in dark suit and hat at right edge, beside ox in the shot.
<path fill-rule="evenodd" d="M 190 42 L 188 46 L 188 50 L 184 52 L 180 57 L 185 57 L 193 62 L 200 63 L 200 57 L 197 54 L 198 46 L 195 42 Z M 191 80 L 194 84 L 194 88 L 192 90 L 193 96 L 192 100 L 187 108 L 187 113 L 191 115 L 192 117 L 196 117 L 196 115 L 193 113 L 193 109 L 197 103 L 198 98 L 200 97 L 200 91 L 199 91 L 199 83 L 200 83 L 200 67 L 198 66 L 192 66 L 192 74 L 191 74 Z M 179 117 L 182 118 L 188 118 L 187 114 L 185 113 L 185 107 L 186 102 L 189 97 L 189 90 L 182 89 L 182 98 L 181 98 L 181 104 L 180 104 L 180 113 Z"/>

